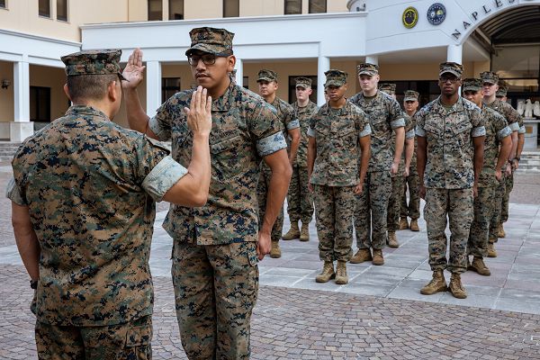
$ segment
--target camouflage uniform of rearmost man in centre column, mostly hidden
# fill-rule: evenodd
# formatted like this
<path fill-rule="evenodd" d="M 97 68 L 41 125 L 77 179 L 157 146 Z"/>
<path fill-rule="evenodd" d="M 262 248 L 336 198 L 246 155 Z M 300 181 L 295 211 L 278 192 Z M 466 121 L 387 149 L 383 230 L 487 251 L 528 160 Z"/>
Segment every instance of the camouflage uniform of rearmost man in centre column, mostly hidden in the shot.
<path fill-rule="evenodd" d="M 416 113 L 416 112 L 415 112 Z M 410 116 L 412 129 L 416 129 L 414 114 Z M 416 135 L 416 134 L 415 134 Z M 419 172 L 417 170 L 417 146 L 416 136 L 414 138 L 414 151 L 410 159 L 409 176 L 405 178 L 403 184 L 403 194 L 401 195 L 401 218 L 418 220 L 420 217 L 420 195 L 419 195 Z M 405 158 L 405 154 L 403 154 Z M 407 189 L 409 189 L 409 202 L 407 202 Z"/>

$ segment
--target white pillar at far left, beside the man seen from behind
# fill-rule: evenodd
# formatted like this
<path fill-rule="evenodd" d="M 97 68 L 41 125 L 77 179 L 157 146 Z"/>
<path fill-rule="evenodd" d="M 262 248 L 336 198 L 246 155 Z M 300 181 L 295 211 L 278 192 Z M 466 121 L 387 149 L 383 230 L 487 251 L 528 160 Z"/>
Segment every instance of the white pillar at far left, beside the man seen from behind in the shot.
<path fill-rule="evenodd" d="M 14 122 L 10 123 L 10 139 L 23 141 L 33 134 L 30 121 L 30 66 L 28 57 L 14 63 Z"/>

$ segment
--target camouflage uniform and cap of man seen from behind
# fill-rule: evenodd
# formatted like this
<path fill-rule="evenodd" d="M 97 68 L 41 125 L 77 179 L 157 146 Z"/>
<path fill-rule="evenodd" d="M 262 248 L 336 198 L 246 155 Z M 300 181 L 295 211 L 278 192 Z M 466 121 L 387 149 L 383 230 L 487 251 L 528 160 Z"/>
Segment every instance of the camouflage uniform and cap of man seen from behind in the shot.
<path fill-rule="evenodd" d="M 68 77 L 120 76 L 118 84 L 120 57 L 94 50 L 62 61 Z M 187 170 L 157 141 L 112 122 L 108 109 L 72 100 L 65 116 L 17 150 L 7 189 L 28 209 L 39 242 L 31 304 L 38 356 L 150 359 L 155 202 Z"/>

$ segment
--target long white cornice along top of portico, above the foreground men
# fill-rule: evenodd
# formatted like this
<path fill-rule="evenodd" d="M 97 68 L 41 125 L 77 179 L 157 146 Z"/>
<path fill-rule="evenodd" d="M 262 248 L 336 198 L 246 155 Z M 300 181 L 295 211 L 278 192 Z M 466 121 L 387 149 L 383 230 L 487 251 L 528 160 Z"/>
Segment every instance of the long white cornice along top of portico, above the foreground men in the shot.
<path fill-rule="evenodd" d="M 268 15 L 268 16 L 245 16 L 245 17 L 227 17 L 213 19 L 196 20 L 169 20 L 157 22 L 132 22 L 132 23 L 90 23 L 80 25 L 81 30 L 85 29 L 114 29 L 126 27 L 155 27 L 164 25 L 203 25 L 207 23 L 257 23 L 265 22 L 283 22 L 284 20 L 313 20 L 313 19 L 344 19 L 349 17 L 365 17 L 367 11 L 351 13 L 324 13 L 324 14 L 300 14 L 300 15 Z"/>

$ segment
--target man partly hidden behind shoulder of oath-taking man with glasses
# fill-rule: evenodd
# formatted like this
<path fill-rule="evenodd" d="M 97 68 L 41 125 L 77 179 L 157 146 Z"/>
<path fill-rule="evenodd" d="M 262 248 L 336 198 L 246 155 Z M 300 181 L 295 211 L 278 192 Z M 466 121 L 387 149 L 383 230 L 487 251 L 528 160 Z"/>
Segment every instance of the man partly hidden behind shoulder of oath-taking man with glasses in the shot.
<path fill-rule="evenodd" d="M 272 85 L 268 83 L 277 84 L 277 73 L 272 70 L 262 69 L 258 72 L 257 83 L 259 86 L 261 83 L 265 83 L 266 86 Z M 300 122 L 295 117 L 293 106 L 289 103 L 285 103 L 282 99 L 278 98 L 274 94 L 274 100 L 270 104 L 277 111 L 277 117 L 282 121 L 284 127 L 284 137 L 288 139 L 289 135 L 293 141 L 287 141 L 288 151 L 291 154 L 290 161 L 296 157 L 296 151 L 298 144 L 300 143 Z M 294 158 L 293 158 L 294 157 Z M 264 162 L 261 162 L 261 174 L 259 176 L 257 184 L 257 199 L 259 203 L 259 226 L 261 226 L 263 219 L 265 218 L 266 200 L 268 195 L 268 188 L 270 185 L 270 178 L 272 177 L 272 170 Z M 282 238 L 284 230 L 284 208 L 282 206 L 277 219 L 275 220 L 274 227 L 272 228 L 272 251 L 270 257 L 281 257 L 281 249 L 279 247 L 279 240 Z"/>

